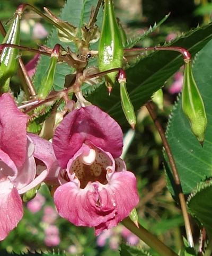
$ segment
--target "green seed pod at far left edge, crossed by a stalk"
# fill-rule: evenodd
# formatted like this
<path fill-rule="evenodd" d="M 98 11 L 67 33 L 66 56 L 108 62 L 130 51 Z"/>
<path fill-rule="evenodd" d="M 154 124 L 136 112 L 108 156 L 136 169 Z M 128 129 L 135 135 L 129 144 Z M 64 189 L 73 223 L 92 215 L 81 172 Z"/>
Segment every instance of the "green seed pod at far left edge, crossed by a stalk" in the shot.
<path fill-rule="evenodd" d="M 2 43 L 12 43 L 19 45 L 20 42 L 20 14 L 15 13 L 10 28 Z M 10 79 L 16 73 L 19 49 L 5 47 L 2 50 L 0 58 L 0 93 L 8 92 L 10 87 Z"/>

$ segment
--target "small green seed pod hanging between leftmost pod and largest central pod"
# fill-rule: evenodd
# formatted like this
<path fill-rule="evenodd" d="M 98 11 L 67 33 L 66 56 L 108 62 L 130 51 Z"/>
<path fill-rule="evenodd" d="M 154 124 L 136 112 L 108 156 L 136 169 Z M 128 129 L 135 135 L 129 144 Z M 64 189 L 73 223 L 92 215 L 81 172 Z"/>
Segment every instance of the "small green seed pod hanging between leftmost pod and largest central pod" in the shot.
<path fill-rule="evenodd" d="M 59 45 L 57 44 L 52 50 L 48 69 L 46 71 L 46 74 L 42 78 L 41 86 L 39 87 L 39 90 L 38 90 L 39 99 L 46 99 L 46 96 L 49 94 L 51 90 L 51 87 L 53 85 L 54 78 L 55 78 L 55 69 L 56 69 L 58 57 L 59 57 Z"/>

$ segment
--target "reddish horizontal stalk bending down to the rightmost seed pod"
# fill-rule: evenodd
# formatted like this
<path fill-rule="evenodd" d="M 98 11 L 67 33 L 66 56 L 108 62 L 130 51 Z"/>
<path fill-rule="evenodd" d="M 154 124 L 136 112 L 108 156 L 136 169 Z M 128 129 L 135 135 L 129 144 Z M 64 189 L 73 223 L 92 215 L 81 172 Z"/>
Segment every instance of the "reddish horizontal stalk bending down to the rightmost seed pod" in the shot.
<path fill-rule="evenodd" d="M 161 46 L 161 47 L 138 47 L 138 48 L 129 48 L 124 49 L 123 51 L 178 51 L 182 54 L 184 60 L 190 60 L 191 55 L 187 49 L 177 46 Z"/>

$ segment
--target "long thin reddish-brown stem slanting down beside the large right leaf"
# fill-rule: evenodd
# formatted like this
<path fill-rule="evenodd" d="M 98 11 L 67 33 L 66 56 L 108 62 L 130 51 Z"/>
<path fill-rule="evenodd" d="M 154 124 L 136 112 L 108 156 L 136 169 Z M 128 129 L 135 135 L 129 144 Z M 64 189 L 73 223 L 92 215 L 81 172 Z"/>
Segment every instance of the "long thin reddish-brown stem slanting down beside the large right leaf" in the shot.
<path fill-rule="evenodd" d="M 183 215 L 183 219 L 184 219 L 184 224 L 185 224 L 185 231 L 187 234 L 187 240 L 189 242 L 190 247 L 193 247 L 193 237 L 192 237 L 192 232 L 191 232 L 191 225 L 190 225 L 190 221 L 189 221 L 189 215 L 188 215 L 188 210 L 187 210 L 187 206 L 186 206 L 186 202 L 185 202 L 185 198 L 182 192 L 182 186 L 181 186 L 181 182 L 180 182 L 180 176 L 178 173 L 178 170 L 176 169 L 176 164 L 174 161 L 174 157 L 172 155 L 171 152 L 171 148 L 169 146 L 169 143 L 167 142 L 167 139 L 165 137 L 165 133 L 164 130 L 161 126 L 161 123 L 158 121 L 157 116 L 155 114 L 154 108 L 153 108 L 153 104 L 148 102 L 146 103 L 146 108 L 149 111 L 150 116 L 152 117 L 155 126 L 158 130 L 158 133 L 161 136 L 167 157 L 169 158 L 169 163 L 173 172 L 173 177 L 174 177 L 174 182 L 176 185 L 176 189 L 177 189 L 177 193 L 178 193 L 178 198 L 180 201 L 180 206 L 181 206 L 181 210 L 182 210 L 182 215 Z"/>

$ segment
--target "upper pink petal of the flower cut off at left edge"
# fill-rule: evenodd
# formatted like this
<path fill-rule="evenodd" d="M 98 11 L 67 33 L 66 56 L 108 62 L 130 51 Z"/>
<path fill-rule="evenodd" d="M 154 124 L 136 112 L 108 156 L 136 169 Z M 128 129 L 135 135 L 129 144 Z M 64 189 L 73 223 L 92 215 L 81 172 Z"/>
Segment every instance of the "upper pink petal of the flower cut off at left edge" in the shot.
<path fill-rule="evenodd" d="M 28 117 L 17 109 L 12 96 L 4 93 L 0 98 L 0 147 L 16 166 L 25 160 Z"/>

